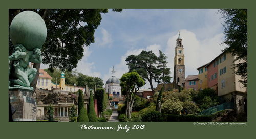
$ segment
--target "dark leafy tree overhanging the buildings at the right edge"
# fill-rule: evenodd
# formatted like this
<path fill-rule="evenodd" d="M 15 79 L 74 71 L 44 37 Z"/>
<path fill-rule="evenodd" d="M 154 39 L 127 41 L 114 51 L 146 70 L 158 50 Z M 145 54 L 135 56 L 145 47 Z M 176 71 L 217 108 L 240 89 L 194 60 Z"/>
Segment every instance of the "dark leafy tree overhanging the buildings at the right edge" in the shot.
<path fill-rule="evenodd" d="M 225 18 L 223 51 L 236 56 L 235 73 L 240 75 L 244 87 L 247 87 L 247 9 L 221 9 L 218 11 Z"/>

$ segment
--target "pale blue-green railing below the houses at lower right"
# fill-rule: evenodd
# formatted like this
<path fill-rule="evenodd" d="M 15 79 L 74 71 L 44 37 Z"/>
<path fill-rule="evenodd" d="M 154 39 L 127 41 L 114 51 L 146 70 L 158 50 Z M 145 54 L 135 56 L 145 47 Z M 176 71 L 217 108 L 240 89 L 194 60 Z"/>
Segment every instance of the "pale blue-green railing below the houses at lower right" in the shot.
<path fill-rule="evenodd" d="M 229 103 L 222 103 L 220 105 L 210 107 L 210 108 L 200 112 L 199 115 L 210 115 L 210 114 L 213 114 L 213 113 L 221 111 L 221 110 L 233 109 L 233 108 L 234 108 L 234 104 L 231 103 L 231 102 L 229 102 Z"/>

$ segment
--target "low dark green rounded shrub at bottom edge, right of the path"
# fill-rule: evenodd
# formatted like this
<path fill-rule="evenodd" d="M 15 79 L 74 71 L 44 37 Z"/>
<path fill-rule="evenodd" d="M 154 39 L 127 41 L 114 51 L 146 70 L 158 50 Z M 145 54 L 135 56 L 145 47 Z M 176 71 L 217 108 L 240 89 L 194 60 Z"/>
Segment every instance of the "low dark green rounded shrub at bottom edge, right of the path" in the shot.
<path fill-rule="evenodd" d="M 144 122 L 158 122 L 158 121 L 162 121 L 162 115 L 158 111 L 150 111 L 147 114 L 143 114 L 142 115 L 141 121 L 144 121 Z"/>

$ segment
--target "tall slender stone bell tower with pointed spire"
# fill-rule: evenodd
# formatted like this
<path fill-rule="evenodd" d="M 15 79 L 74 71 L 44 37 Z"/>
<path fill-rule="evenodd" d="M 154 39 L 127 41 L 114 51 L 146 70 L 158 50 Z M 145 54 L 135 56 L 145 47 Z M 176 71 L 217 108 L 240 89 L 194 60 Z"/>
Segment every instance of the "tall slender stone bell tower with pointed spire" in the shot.
<path fill-rule="evenodd" d="M 176 39 L 175 57 L 174 57 L 174 88 L 179 89 L 184 87 L 185 84 L 185 65 L 184 65 L 184 48 L 182 45 L 182 39 L 179 37 Z"/>

